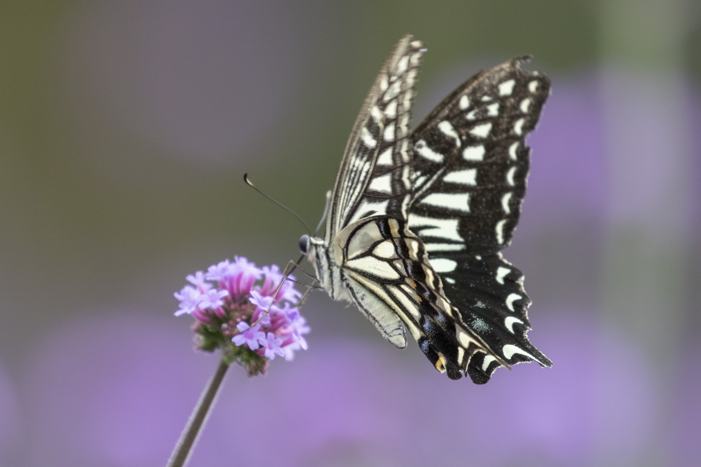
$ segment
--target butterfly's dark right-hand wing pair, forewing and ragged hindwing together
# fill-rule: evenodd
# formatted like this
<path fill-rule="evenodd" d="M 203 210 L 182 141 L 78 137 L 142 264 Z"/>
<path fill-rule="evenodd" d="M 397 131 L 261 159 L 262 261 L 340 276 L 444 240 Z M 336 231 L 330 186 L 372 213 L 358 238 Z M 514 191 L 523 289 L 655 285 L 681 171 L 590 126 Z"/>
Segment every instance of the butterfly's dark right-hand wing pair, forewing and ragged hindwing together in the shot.
<path fill-rule="evenodd" d="M 550 80 L 517 58 L 480 71 L 411 134 L 414 197 L 409 228 L 423 239 L 444 291 L 463 321 L 508 363 L 552 362 L 530 344 L 523 275 L 499 251 L 511 242 L 526 193 L 530 148 Z M 500 363 L 477 354 L 468 366 L 484 383 Z"/>

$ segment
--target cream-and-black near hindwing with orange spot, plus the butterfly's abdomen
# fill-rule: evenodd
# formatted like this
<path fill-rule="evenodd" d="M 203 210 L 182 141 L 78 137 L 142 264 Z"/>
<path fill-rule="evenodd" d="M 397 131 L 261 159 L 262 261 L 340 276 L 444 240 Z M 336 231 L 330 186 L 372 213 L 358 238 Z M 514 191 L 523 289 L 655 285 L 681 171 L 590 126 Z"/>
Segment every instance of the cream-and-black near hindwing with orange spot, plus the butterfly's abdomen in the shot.
<path fill-rule="evenodd" d="M 480 362 L 488 356 L 506 364 L 447 300 L 423 242 L 405 221 L 371 216 L 349 224 L 334 240 L 334 258 L 351 301 L 397 347 L 407 344 L 407 326 L 435 368 L 451 379 L 468 372 L 475 355 Z"/>

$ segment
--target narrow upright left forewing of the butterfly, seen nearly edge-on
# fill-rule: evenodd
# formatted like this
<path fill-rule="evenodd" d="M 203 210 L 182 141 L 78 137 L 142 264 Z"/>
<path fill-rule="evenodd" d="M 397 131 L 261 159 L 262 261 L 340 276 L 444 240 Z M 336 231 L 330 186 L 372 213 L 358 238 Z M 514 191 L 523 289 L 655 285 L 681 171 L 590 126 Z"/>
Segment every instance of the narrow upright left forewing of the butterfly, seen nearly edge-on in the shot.
<path fill-rule="evenodd" d="M 404 36 L 365 98 L 336 176 L 327 244 L 360 218 L 376 214 L 406 218 L 412 156 L 408 125 L 423 51 L 421 41 Z"/>

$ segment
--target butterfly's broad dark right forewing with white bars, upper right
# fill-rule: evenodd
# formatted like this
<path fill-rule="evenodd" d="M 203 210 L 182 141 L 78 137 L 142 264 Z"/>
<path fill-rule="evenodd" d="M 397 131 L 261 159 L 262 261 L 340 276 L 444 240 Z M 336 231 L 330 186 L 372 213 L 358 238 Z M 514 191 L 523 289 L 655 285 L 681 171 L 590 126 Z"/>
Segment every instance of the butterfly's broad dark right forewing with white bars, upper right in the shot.
<path fill-rule="evenodd" d="M 414 130 L 409 225 L 428 251 L 508 246 L 526 193 L 525 137 L 549 92 L 547 77 L 511 60 L 470 78 Z"/>

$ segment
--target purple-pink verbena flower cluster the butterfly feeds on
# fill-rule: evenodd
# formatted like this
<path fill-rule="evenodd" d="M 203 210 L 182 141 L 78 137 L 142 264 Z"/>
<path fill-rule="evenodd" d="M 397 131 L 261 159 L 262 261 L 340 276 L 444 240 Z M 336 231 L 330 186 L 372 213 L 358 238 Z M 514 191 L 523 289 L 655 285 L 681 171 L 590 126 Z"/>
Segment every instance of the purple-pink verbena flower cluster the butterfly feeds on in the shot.
<path fill-rule="evenodd" d="M 283 278 L 277 265 L 258 268 L 235 256 L 233 263 L 224 260 L 206 273 L 186 277 L 192 285 L 175 293 L 180 300 L 175 316 L 191 314 L 196 319 L 198 349 L 222 349 L 222 358 L 243 365 L 248 375 L 265 374 L 275 355 L 290 361 L 295 350 L 307 349 L 304 335 L 310 328 L 299 307 L 293 306 L 302 294 L 292 281 L 280 286 Z"/>

